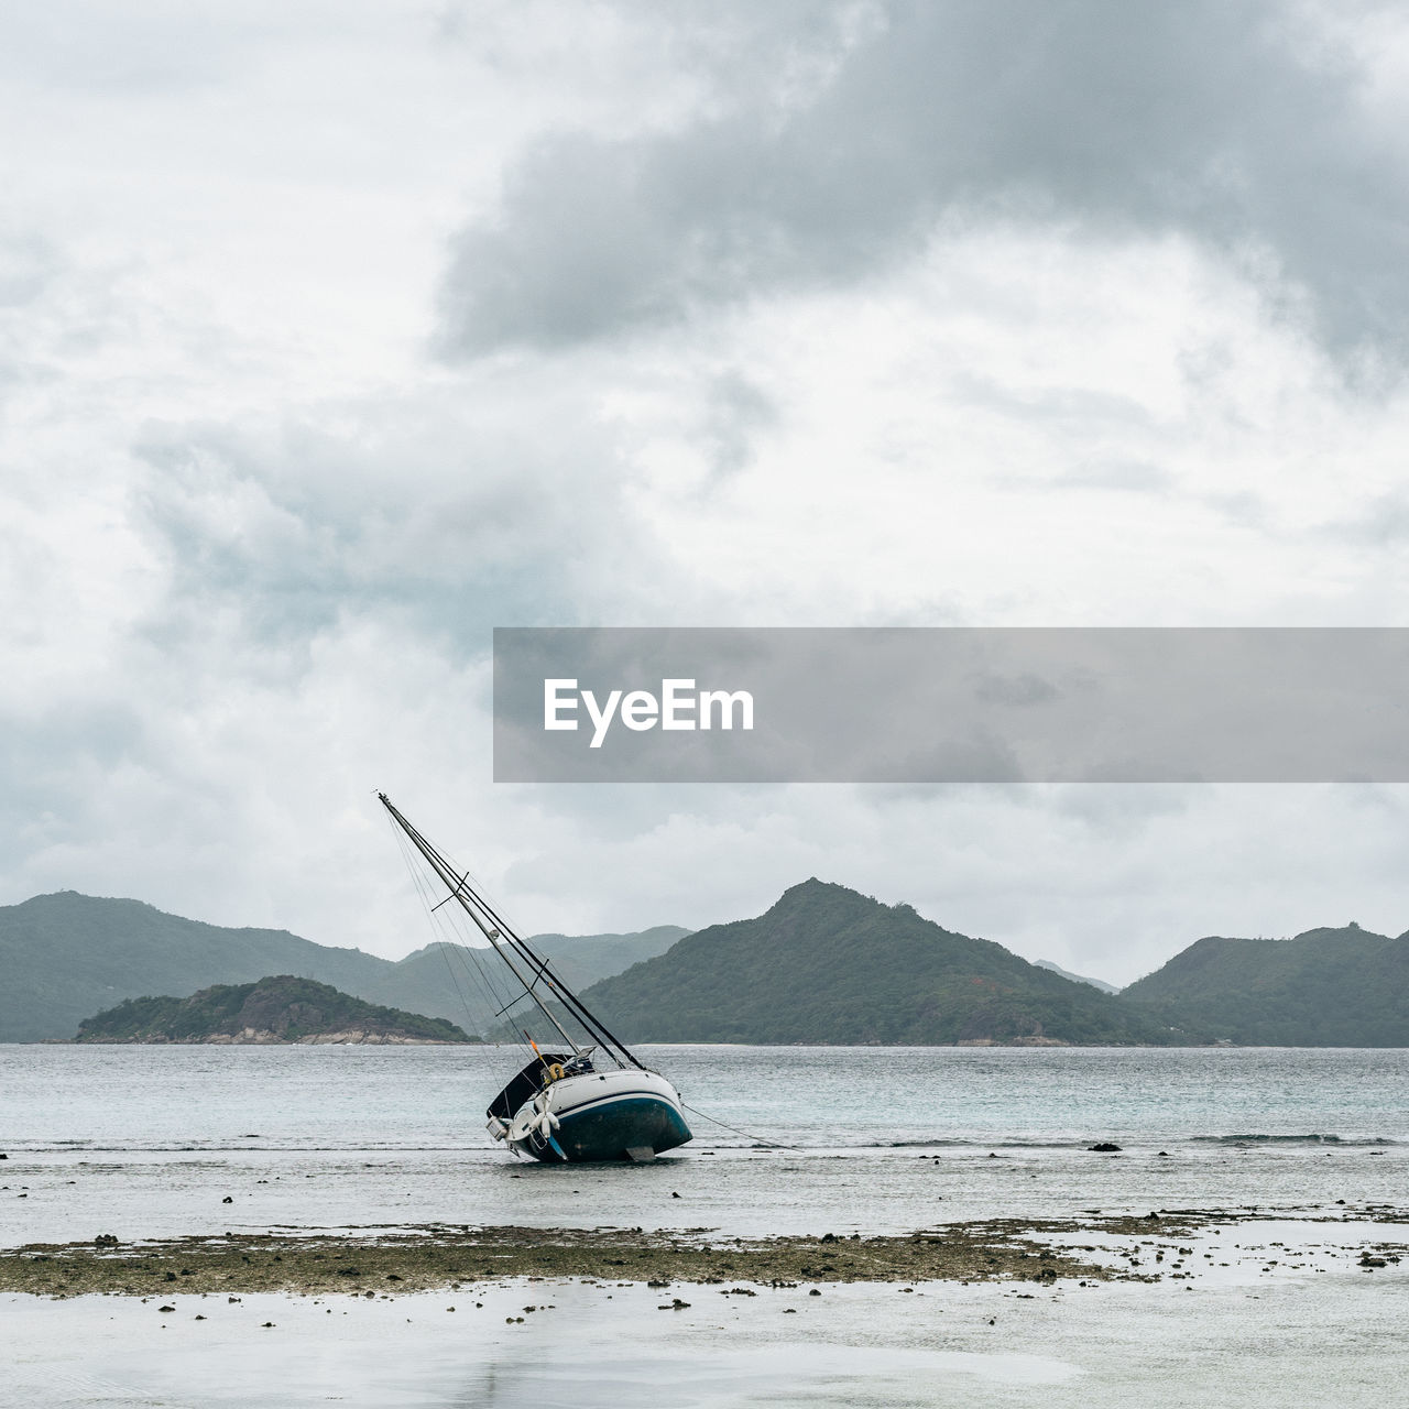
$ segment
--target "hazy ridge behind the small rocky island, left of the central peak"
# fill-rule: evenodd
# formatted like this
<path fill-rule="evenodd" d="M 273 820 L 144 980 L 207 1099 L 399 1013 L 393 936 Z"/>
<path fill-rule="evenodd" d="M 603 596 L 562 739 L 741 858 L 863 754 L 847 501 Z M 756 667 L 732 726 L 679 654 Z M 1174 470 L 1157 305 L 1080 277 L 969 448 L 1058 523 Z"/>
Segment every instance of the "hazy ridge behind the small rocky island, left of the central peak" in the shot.
<path fill-rule="evenodd" d="M 683 933 L 658 926 L 640 936 L 547 936 L 545 945 L 590 982 L 613 972 L 616 962 L 661 952 Z M 493 967 L 486 969 L 503 986 Z M 0 1043 L 68 1038 L 85 1017 L 124 998 L 186 996 L 268 974 L 331 983 L 366 1002 L 445 1017 L 469 1031 L 488 1030 L 502 1002 L 493 1000 L 488 983 L 471 979 L 473 955 L 444 952 L 440 944 L 393 962 L 314 944 L 287 930 L 225 929 L 141 900 L 61 890 L 0 906 Z"/>

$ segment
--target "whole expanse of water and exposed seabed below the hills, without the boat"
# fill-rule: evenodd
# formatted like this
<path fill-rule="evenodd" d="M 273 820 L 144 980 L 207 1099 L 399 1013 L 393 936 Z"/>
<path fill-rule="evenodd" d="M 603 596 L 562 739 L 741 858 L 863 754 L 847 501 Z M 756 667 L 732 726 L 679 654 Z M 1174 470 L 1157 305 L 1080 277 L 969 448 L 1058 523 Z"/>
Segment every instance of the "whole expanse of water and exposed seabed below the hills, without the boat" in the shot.
<path fill-rule="evenodd" d="M 514 1162 L 472 1099 L 493 1050 L 0 1048 L 6 1402 L 1379 1409 L 1402 1382 L 1409 1053 L 652 1060 L 768 1143 L 702 1119 L 652 1164 Z"/>

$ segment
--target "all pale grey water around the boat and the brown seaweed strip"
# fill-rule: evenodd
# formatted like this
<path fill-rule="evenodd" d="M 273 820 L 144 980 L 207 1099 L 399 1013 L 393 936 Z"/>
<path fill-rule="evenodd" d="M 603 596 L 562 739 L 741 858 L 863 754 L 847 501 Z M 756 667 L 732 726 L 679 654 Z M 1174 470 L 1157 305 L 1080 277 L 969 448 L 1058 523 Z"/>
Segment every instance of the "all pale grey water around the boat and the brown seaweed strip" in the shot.
<path fill-rule="evenodd" d="M 679 1088 L 695 1140 L 647 1165 L 554 1167 L 514 1160 L 485 1130 L 517 1048 L 0 1045 L 0 1246 L 424 1224 L 867 1236 L 1222 1209 L 1268 1220 L 1282 1253 L 1265 1251 L 1271 1233 L 1255 1257 L 1227 1251 L 1254 1246 L 1233 1231 L 1210 1244 L 1192 1296 L 1168 1281 L 1022 1301 L 945 1284 L 902 1305 L 895 1286 L 827 1286 L 789 1308 L 790 1292 L 744 1302 L 695 1288 L 665 1316 L 669 1299 L 644 1286 L 562 1285 L 552 1336 L 527 1317 L 530 1341 L 506 1316 L 550 1293 L 520 1284 L 485 1288 L 455 1316 L 445 1293 L 337 1316 L 307 1298 L 245 1298 L 218 1316 L 206 1303 L 201 1319 L 220 1324 L 199 1330 L 194 1312 L 186 1330 L 158 1329 L 134 1299 L 6 1296 L 0 1399 L 1354 1405 L 1392 1402 L 1386 1379 L 1409 1371 L 1409 1260 L 1371 1279 L 1286 1253 L 1324 1241 L 1347 1212 L 1403 1217 L 1409 1051 L 640 1055 Z"/>

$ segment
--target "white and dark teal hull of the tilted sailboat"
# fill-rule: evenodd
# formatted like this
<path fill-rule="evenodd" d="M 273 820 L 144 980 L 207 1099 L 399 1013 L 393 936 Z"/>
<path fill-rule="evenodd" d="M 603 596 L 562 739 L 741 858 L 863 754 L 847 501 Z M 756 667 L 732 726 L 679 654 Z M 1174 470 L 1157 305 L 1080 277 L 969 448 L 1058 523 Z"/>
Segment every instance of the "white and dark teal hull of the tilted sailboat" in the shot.
<path fill-rule="evenodd" d="M 521 1107 L 509 1131 L 510 1148 L 545 1164 L 650 1160 L 690 1138 L 679 1093 L 655 1072 L 557 1081 Z"/>

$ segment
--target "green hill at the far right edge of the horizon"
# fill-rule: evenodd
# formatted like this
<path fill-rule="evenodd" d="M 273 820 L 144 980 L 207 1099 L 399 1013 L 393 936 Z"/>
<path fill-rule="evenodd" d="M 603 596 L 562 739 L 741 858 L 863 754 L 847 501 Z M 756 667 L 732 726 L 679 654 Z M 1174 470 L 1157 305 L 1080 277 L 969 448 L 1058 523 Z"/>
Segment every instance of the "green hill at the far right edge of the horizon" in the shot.
<path fill-rule="evenodd" d="M 1409 934 L 1348 924 L 1292 940 L 1210 936 L 1120 998 L 1240 1045 L 1409 1047 Z"/>

